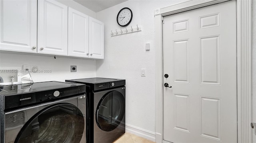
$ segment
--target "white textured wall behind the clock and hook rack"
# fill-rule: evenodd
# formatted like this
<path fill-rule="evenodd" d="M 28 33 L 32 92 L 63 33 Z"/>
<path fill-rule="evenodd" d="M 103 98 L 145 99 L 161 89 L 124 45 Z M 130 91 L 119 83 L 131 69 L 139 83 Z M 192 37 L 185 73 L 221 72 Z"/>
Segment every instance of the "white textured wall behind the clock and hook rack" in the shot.
<path fill-rule="evenodd" d="M 184 0 L 183 0 L 184 1 Z M 181 0 L 129 0 L 97 13 L 97 19 L 105 24 L 105 59 L 97 61 L 98 77 L 126 79 L 126 124 L 155 133 L 155 33 L 154 10 Z M 123 27 L 116 23 L 116 16 L 124 7 L 132 10 L 130 25 L 142 27 L 142 31 L 111 37 Z M 145 50 L 150 43 L 150 51 Z M 140 69 L 146 76 L 140 76 Z"/>

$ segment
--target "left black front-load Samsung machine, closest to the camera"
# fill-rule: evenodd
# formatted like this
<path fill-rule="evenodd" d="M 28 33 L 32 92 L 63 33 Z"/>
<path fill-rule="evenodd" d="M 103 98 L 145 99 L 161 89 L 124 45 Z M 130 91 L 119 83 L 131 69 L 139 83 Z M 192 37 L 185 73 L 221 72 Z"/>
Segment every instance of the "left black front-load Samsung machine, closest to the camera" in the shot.
<path fill-rule="evenodd" d="M 85 84 L 36 82 L 0 87 L 0 143 L 85 143 Z"/>

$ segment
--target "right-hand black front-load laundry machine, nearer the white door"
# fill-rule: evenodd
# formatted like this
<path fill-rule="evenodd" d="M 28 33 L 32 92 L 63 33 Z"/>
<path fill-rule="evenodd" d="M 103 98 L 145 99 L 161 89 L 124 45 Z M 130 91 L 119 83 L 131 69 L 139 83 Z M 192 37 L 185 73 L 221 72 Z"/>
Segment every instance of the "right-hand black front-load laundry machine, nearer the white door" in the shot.
<path fill-rule="evenodd" d="M 66 82 L 86 84 L 90 143 L 112 143 L 125 133 L 124 79 L 84 78 Z"/>

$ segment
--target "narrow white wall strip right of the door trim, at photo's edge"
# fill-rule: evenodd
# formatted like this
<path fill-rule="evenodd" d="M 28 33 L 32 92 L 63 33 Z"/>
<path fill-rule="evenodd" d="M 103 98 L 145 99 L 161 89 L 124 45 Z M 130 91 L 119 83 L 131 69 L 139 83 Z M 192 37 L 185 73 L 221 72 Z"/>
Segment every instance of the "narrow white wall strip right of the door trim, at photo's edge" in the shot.
<path fill-rule="evenodd" d="M 252 0 L 252 122 L 256 123 L 256 1 Z M 252 142 L 256 135 L 252 131 Z"/>

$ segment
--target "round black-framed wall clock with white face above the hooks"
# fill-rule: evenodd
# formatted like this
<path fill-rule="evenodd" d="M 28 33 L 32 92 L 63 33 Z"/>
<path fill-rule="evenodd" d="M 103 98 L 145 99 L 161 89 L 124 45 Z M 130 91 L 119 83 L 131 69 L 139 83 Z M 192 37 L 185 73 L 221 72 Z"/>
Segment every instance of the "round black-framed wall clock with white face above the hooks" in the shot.
<path fill-rule="evenodd" d="M 130 8 L 122 8 L 116 17 L 117 23 L 120 26 L 127 26 L 132 21 L 132 10 Z"/>

